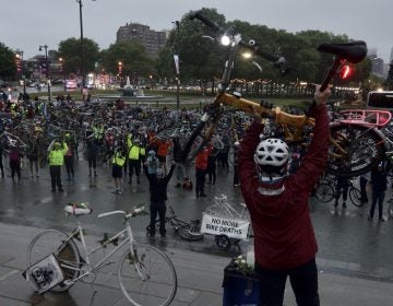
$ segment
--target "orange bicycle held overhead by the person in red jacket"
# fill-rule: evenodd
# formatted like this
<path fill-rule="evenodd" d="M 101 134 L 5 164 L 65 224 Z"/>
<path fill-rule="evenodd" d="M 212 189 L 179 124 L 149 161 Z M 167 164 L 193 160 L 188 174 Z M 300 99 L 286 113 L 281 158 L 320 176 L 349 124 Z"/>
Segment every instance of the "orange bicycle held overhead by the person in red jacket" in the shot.
<path fill-rule="evenodd" d="M 207 25 L 211 30 L 213 30 L 216 33 L 224 33 L 217 24 L 210 21 L 205 16 L 201 15 L 200 12 L 192 13 L 190 15 L 190 19 L 198 19 L 201 22 L 203 22 L 205 25 Z M 228 59 L 225 62 L 225 69 L 222 75 L 221 83 L 218 85 L 217 94 L 214 98 L 214 101 L 205 107 L 205 113 L 203 114 L 201 118 L 201 122 L 195 128 L 193 133 L 191 134 L 187 145 L 183 150 L 183 163 L 187 165 L 189 164 L 198 154 L 198 152 L 209 141 L 211 141 L 211 138 L 213 136 L 213 132 L 219 121 L 219 118 L 223 115 L 222 105 L 231 106 L 238 109 L 241 109 L 246 113 L 258 113 L 262 116 L 273 117 L 274 118 L 274 125 L 281 126 L 284 131 L 284 136 L 286 141 L 294 142 L 296 144 L 301 144 L 305 142 L 303 140 L 303 131 L 305 127 L 307 126 L 314 126 L 314 119 L 309 117 L 309 110 L 312 108 L 312 106 L 315 104 L 315 102 L 312 102 L 310 105 L 310 108 L 308 111 L 306 111 L 306 115 L 290 115 L 288 113 L 283 111 L 279 107 L 273 107 L 273 105 L 269 103 L 255 103 L 252 101 L 245 99 L 240 97 L 237 93 L 228 93 L 226 90 L 230 84 L 230 73 L 234 68 L 234 59 L 237 51 L 237 48 L 243 47 L 254 55 L 261 56 L 272 62 L 274 62 L 275 67 L 278 67 L 281 69 L 282 73 L 285 73 L 287 70 L 283 71 L 283 64 L 285 63 L 285 59 L 283 57 L 272 56 L 264 51 L 262 51 L 255 44 L 255 42 L 250 40 L 249 43 L 245 43 L 241 40 L 240 34 L 236 34 L 231 36 L 231 44 L 229 44 L 229 55 Z M 341 67 L 343 67 L 347 62 L 352 63 L 358 63 L 360 62 L 367 55 L 367 46 L 365 42 L 353 42 L 347 44 L 331 44 L 331 43 L 323 43 L 318 48 L 321 52 L 327 52 L 334 55 L 334 61 L 326 73 L 323 82 L 321 83 L 320 91 L 323 92 L 332 81 L 332 79 L 337 74 L 337 71 Z M 369 114 L 358 114 L 357 117 L 361 117 L 364 120 L 366 120 L 367 116 Z M 386 122 L 391 117 L 386 117 L 386 115 L 382 114 L 381 116 L 377 115 L 377 120 L 380 120 L 382 118 L 382 121 Z M 364 145 L 364 153 L 370 153 L 370 157 L 374 157 L 374 155 L 378 155 L 378 157 L 381 157 L 382 151 L 384 151 L 384 137 L 381 132 L 379 132 L 378 129 L 376 129 L 372 126 L 372 122 L 366 122 L 364 120 L 353 120 L 347 119 L 343 121 L 336 121 L 335 125 L 342 125 L 338 128 L 336 126 L 332 126 L 335 128 L 336 136 L 338 139 L 334 139 L 334 137 L 330 137 L 330 150 L 331 151 L 331 157 L 334 160 L 343 160 L 344 162 L 347 162 L 347 160 L 350 161 L 353 156 L 356 156 L 354 153 L 354 148 L 352 146 L 353 141 L 354 145 L 356 145 L 356 141 L 358 139 L 350 139 L 350 133 L 348 132 L 350 129 L 347 127 L 350 127 L 354 130 L 357 130 L 357 137 L 361 137 L 362 143 L 372 142 L 374 145 L 374 151 L 368 150 L 369 146 Z M 205 126 L 209 123 L 209 127 L 206 131 L 204 132 L 203 141 L 200 141 L 198 145 L 194 145 L 194 141 L 196 138 L 202 133 Z M 379 121 L 377 123 L 380 123 Z M 341 132 L 341 128 L 347 128 L 346 130 L 343 129 L 344 133 Z M 345 133 L 347 132 L 347 133 Z M 352 133 L 355 133 L 352 131 Z M 361 143 L 361 141 L 359 143 Z M 307 141 L 306 141 L 307 142 Z M 381 145 L 382 144 L 382 145 Z M 346 145 L 346 148 L 344 146 Z M 192 150 L 191 150 L 192 149 Z M 190 153 L 190 151 L 192 153 Z M 356 156 L 357 157 L 357 156 Z M 332 164 L 332 163 L 331 163 Z M 364 163 L 361 164 L 362 167 L 358 168 L 358 162 L 355 162 L 354 164 L 355 170 L 353 170 L 352 175 L 354 173 L 361 174 L 367 172 L 370 167 L 370 163 Z M 340 170 L 340 168 L 335 167 L 331 169 L 332 173 L 340 173 L 342 176 L 348 176 L 348 174 L 345 174 Z"/>

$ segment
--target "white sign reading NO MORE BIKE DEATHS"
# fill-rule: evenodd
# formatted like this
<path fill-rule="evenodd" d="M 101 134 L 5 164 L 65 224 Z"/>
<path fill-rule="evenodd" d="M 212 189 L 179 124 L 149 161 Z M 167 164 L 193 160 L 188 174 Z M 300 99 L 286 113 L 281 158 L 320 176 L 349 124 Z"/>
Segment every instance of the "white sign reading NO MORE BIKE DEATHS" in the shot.
<path fill-rule="evenodd" d="M 241 219 L 227 219 L 204 213 L 201 233 L 225 235 L 229 238 L 246 239 L 250 222 Z"/>

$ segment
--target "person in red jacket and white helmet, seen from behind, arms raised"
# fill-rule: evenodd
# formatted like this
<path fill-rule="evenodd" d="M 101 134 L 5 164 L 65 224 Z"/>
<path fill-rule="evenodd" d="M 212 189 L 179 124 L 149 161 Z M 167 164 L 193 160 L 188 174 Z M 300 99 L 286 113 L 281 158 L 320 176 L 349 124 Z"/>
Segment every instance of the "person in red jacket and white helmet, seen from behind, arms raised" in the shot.
<path fill-rule="evenodd" d="M 239 151 L 241 192 L 254 232 L 255 272 L 260 281 L 260 306 L 283 305 L 289 276 L 296 302 L 320 305 L 318 294 L 317 239 L 308 198 L 327 160 L 330 90 L 315 90 L 310 116 L 314 137 L 300 167 L 287 175 L 289 150 L 281 139 L 260 141 L 261 116 L 246 132 Z"/>

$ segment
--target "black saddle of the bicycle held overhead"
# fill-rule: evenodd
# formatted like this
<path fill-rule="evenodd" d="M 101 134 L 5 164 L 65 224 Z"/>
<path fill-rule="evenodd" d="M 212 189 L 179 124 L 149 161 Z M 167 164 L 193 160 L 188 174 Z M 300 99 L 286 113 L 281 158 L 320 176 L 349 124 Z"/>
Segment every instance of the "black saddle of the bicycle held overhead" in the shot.
<path fill-rule="evenodd" d="M 357 63 L 366 57 L 367 45 L 362 40 L 345 44 L 322 43 L 318 46 L 317 50 L 332 54 L 349 62 Z"/>

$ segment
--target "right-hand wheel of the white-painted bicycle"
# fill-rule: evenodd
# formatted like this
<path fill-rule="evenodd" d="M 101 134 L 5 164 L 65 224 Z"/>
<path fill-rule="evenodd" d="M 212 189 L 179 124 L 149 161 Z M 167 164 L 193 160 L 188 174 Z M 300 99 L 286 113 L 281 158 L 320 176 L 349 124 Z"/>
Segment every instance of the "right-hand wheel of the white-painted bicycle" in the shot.
<path fill-rule="evenodd" d="M 169 305 L 177 291 L 177 275 L 168 256 L 153 246 L 134 245 L 119 267 L 120 287 L 133 305 Z"/>

